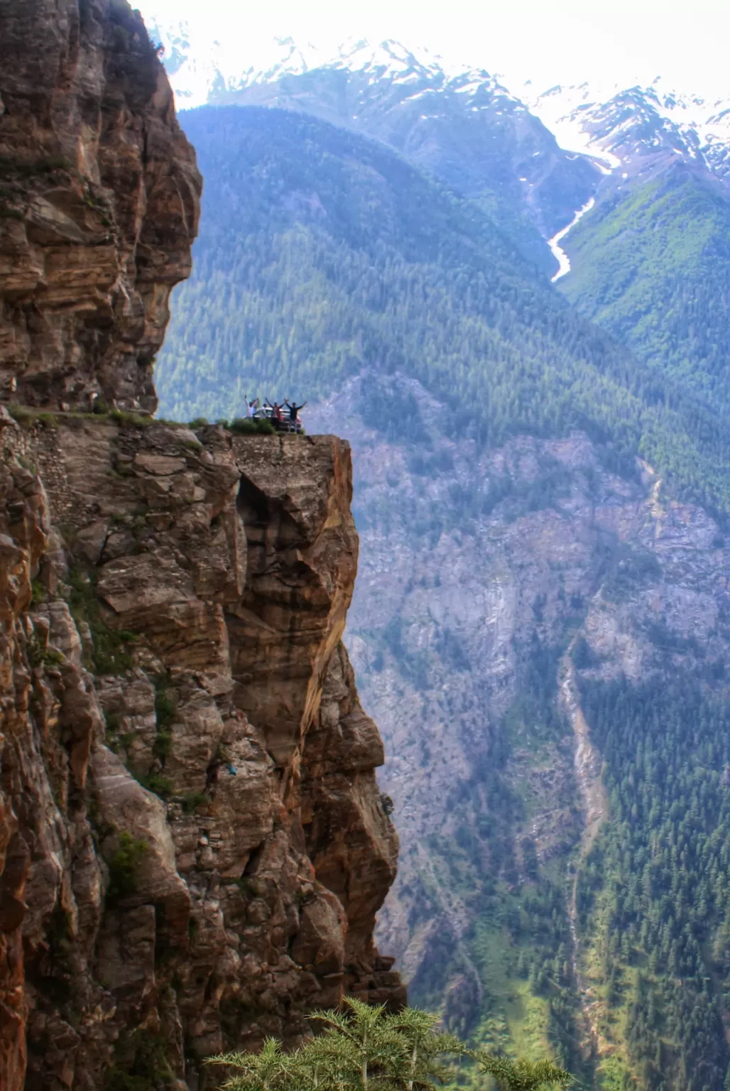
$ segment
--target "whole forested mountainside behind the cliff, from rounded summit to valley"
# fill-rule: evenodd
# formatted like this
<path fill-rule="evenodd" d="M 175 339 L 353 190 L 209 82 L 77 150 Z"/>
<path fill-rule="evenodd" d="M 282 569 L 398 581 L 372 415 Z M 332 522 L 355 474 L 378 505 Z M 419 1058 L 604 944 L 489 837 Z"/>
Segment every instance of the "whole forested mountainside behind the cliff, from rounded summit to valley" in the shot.
<path fill-rule="evenodd" d="M 402 837 L 381 948 L 414 1003 L 584 1087 L 720 1091 L 723 416 L 382 146 L 183 121 L 204 214 L 161 412 L 309 398 L 355 448 L 348 640 Z"/>

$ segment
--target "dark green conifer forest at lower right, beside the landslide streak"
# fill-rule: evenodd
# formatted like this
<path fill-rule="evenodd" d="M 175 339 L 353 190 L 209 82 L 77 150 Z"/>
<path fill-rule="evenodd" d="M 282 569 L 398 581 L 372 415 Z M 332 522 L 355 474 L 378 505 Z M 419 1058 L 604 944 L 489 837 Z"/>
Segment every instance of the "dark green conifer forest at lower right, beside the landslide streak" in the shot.
<path fill-rule="evenodd" d="M 691 676 L 582 690 L 610 817 L 578 911 L 601 1033 L 623 1062 L 615 1086 L 727 1087 L 730 707 Z"/>

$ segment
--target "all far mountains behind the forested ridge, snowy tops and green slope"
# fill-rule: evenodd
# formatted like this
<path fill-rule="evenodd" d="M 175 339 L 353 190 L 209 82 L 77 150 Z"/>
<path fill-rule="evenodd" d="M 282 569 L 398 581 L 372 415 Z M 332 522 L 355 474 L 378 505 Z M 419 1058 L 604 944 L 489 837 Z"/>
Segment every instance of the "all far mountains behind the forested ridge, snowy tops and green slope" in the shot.
<path fill-rule="evenodd" d="M 478 201 L 547 276 L 546 240 L 594 197 L 561 243 L 561 289 L 637 359 L 726 407 L 727 99 L 660 77 L 515 95 L 484 69 L 393 40 L 330 56 L 277 39 L 266 63 L 247 67 L 200 28 L 160 20 L 154 34 L 181 103 L 284 107 L 382 141 Z"/>

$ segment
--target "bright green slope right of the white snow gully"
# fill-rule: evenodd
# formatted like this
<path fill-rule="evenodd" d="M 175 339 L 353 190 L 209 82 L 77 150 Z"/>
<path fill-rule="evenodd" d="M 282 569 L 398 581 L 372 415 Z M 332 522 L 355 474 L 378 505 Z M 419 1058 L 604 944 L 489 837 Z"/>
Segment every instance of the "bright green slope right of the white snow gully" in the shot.
<path fill-rule="evenodd" d="M 583 314 L 689 396 L 723 412 L 730 408 L 728 238 L 723 191 L 678 166 L 584 217 L 566 240 L 573 271 L 561 280 Z"/>

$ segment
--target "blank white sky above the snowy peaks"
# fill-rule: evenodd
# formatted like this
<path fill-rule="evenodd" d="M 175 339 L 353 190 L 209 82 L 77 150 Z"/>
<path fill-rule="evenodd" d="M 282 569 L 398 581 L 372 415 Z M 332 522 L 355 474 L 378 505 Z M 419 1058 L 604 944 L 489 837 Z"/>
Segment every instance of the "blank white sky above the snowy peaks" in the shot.
<path fill-rule="evenodd" d="M 259 43 L 291 35 L 330 49 L 351 36 L 397 38 L 501 74 L 519 92 L 583 80 L 650 83 L 730 95 L 730 0 L 132 0 L 143 15 L 190 19 Z M 262 49 L 263 51 L 263 49 Z"/>

